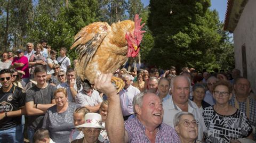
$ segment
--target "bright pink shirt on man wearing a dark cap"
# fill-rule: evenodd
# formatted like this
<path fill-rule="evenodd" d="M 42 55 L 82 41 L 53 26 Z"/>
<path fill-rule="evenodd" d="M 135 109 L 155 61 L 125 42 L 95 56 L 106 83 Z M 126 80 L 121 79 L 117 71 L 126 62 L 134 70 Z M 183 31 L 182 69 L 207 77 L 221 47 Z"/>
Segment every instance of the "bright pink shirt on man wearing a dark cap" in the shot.
<path fill-rule="evenodd" d="M 20 67 L 20 68 L 15 68 L 16 70 L 21 70 L 25 72 L 25 75 L 22 76 L 22 78 L 29 78 L 29 71 L 28 71 L 28 58 L 26 56 L 22 56 L 22 57 L 14 57 L 13 61 L 12 61 L 12 65 L 14 63 L 23 63 L 24 66 Z"/>

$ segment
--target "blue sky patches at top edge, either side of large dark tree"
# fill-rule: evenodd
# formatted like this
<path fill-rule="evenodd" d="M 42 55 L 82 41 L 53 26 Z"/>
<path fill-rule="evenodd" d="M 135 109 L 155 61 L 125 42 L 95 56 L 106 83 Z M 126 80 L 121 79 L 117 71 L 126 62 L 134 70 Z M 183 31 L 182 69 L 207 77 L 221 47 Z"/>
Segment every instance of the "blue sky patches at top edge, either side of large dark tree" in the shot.
<path fill-rule="evenodd" d="M 149 0 L 141 0 L 144 6 L 149 5 Z M 227 0 L 211 0 L 211 10 L 217 10 L 219 13 L 220 21 L 224 22 L 227 10 Z"/>

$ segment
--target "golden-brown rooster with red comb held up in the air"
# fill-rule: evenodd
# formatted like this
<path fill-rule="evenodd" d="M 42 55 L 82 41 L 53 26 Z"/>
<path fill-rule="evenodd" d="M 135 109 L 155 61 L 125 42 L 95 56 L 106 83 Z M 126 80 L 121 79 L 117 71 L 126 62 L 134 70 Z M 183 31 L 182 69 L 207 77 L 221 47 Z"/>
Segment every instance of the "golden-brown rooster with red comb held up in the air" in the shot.
<path fill-rule="evenodd" d="M 76 47 L 78 62 L 75 66 L 77 77 L 84 83 L 94 84 L 94 78 L 101 73 L 114 73 L 129 57 L 136 57 L 145 31 L 144 24 L 136 14 L 134 22 L 125 20 L 111 24 L 94 22 L 82 28 L 75 36 L 70 49 Z M 122 79 L 112 77 L 111 82 L 119 92 L 124 87 Z"/>

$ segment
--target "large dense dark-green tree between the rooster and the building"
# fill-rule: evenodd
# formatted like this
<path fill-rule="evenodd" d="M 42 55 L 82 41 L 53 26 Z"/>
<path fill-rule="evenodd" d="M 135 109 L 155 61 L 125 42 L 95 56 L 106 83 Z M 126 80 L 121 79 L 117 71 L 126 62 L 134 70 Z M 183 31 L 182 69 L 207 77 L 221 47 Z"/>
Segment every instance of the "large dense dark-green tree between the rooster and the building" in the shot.
<path fill-rule="evenodd" d="M 149 52 L 150 63 L 162 68 L 189 66 L 196 69 L 230 68 L 234 65 L 221 48 L 226 43 L 218 13 L 210 11 L 210 1 L 150 1 L 148 27 L 155 37 L 154 48 Z M 161 7 L 161 9 L 159 9 Z M 231 51 L 229 56 L 231 56 Z M 164 59 L 164 60 L 163 60 Z"/>

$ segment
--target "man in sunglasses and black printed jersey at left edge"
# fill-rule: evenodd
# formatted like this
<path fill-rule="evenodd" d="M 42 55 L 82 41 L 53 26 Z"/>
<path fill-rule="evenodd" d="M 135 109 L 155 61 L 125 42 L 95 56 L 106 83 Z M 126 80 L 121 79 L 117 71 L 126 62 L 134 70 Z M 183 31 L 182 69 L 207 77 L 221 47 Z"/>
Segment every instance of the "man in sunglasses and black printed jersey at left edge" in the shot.
<path fill-rule="evenodd" d="M 21 115 L 25 110 L 25 92 L 14 86 L 10 69 L 0 71 L 0 142 L 23 142 Z"/>

